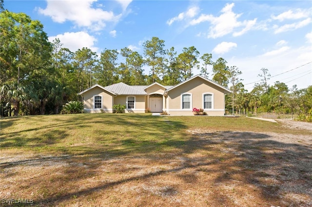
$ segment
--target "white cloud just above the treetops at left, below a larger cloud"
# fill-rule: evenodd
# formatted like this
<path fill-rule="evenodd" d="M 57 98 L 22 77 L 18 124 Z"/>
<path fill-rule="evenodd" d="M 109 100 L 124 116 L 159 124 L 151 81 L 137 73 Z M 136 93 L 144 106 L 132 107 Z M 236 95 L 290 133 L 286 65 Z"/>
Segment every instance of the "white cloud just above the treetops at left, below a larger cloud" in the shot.
<path fill-rule="evenodd" d="M 94 46 L 97 39 L 85 32 L 64 33 L 56 36 L 50 36 L 49 41 L 59 38 L 64 48 L 68 48 L 72 52 L 76 52 L 83 47 L 89 48 L 93 52 L 98 52 L 98 48 Z"/>

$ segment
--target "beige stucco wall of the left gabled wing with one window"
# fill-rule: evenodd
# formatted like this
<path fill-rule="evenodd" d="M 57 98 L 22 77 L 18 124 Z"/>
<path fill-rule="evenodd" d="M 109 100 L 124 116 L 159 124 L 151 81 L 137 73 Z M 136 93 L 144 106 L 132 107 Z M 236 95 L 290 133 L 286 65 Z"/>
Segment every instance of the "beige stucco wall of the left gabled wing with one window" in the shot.
<path fill-rule="evenodd" d="M 100 87 L 94 87 L 83 95 L 83 107 L 88 113 L 101 113 L 102 111 L 106 113 L 112 113 L 113 108 L 113 95 Z M 94 109 L 94 96 L 102 96 L 102 110 Z"/>

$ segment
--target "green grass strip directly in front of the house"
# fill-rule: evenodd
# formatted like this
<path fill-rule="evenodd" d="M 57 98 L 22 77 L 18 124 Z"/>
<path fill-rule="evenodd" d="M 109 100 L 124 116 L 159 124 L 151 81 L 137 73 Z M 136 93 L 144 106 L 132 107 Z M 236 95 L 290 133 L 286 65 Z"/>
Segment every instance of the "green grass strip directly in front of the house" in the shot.
<path fill-rule="evenodd" d="M 150 114 L 75 114 L 1 119 L 1 149 L 72 154 L 152 152 L 187 144 L 188 129 L 292 133 L 278 123 L 246 117 L 155 117 Z M 298 132 L 296 132 L 298 133 Z M 301 133 L 305 134 L 304 130 Z"/>

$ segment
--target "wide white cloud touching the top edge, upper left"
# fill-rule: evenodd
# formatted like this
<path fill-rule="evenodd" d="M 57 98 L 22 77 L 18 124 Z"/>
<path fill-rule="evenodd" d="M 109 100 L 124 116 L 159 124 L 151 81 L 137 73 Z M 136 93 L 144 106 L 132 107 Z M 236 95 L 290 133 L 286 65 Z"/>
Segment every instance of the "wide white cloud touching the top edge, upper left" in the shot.
<path fill-rule="evenodd" d="M 121 15 L 115 16 L 112 11 L 92 8 L 94 1 L 96 0 L 47 0 L 47 7 L 38 8 L 38 12 L 51 17 L 55 22 L 73 21 L 78 27 L 94 31 L 103 29 L 105 22 L 119 20 Z"/>

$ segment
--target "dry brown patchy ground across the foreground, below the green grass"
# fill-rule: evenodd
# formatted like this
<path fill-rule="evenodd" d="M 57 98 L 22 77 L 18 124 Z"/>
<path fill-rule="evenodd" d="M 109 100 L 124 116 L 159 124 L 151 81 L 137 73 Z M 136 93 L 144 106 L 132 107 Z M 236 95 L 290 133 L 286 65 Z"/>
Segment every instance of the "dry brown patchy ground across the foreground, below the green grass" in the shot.
<path fill-rule="evenodd" d="M 153 153 L 2 151 L 0 197 L 33 206 L 312 206 L 312 135 L 192 128 L 185 136 Z"/>

